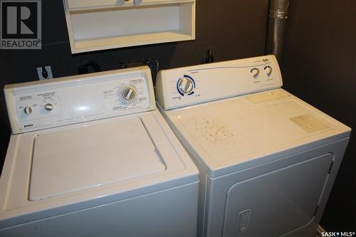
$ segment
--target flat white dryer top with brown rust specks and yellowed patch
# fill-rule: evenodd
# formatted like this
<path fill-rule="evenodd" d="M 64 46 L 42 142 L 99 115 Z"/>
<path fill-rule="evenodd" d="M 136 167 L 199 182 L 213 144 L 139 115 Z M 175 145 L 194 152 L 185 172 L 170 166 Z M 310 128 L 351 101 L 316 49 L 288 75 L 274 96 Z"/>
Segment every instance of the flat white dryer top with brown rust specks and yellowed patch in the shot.
<path fill-rule="evenodd" d="M 350 128 L 284 90 L 166 112 L 211 177 L 229 174 L 350 135 Z"/>

